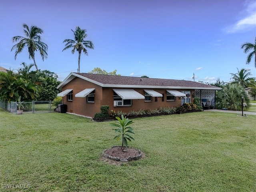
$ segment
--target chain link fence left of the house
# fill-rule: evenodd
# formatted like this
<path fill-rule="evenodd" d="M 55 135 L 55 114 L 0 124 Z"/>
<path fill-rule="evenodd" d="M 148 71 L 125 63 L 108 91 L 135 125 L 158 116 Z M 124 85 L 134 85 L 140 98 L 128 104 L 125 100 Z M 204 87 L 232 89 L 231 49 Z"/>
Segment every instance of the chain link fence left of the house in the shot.
<path fill-rule="evenodd" d="M 56 111 L 62 101 L 7 102 L 0 101 L 0 107 L 13 114 L 50 113 Z"/>

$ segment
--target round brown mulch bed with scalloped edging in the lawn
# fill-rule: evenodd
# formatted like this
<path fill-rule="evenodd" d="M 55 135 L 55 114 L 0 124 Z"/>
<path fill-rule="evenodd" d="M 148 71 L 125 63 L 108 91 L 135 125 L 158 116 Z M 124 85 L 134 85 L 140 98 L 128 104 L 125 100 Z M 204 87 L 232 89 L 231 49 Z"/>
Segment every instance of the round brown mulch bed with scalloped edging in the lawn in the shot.
<path fill-rule="evenodd" d="M 121 150 L 120 146 L 114 146 L 104 150 L 102 156 L 115 161 L 128 162 L 140 159 L 142 157 L 142 152 L 131 147 L 123 147 Z"/>

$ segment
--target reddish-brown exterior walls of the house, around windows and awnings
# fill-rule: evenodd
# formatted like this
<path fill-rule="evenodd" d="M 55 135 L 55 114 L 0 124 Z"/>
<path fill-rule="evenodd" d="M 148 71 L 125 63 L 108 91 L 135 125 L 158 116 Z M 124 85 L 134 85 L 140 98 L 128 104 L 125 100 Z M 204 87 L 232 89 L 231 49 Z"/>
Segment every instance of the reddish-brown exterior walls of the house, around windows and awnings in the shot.
<path fill-rule="evenodd" d="M 93 104 L 87 103 L 86 97 L 85 98 L 75 97 L 75 95 L 78 92 L 86 88 L 95 88 L 95 98 L 94 98 L 95 102 Z M 72 102 L 67 101 L 67 96 L 64 96 L 62 98 L 63 103 L 67 104 L 68 106 L 67 112 L 89 116 L 89 117 L 94 117 L 94 114 L 96 112 L 100 112 L 101 105 L 109 105 L 110 110 L 123 111 L 123 112 L 129 112 L 131 110 L 138 111 L 140 109 L 156 109 L 158 107 L 164 107 L 164 106 L 176 107 L 181 105 L 181 100 L 178 97 L 176 97 L 175 101 L 170 101 L 170 102 L 166 101 L 166 89 L 154 89 L 155 91 L 161 94 L 164 94 L 164 102 L 162 102 L 161 97 L 158 98 L 157 102 L 155 102 L 155 98 L 152 97 L 152 102 L 145 102 L 144 99 L 140 99 L 140 100 L 137 99 L 137 100 L 132 100 L 132 106 L 123 106 L 123 107 L 114 107 L 114 97 L 113 97 L 114 88 L 106 88 L 106 87 L 102 88 L 101 86 L 98 86 L 96 84 L 83 80 L 81 78 L 74 78 L 74 80 L 72 80 L 62 88 L 62 91 L 66 89 L 73 89 Z M 132 89 L 132 88 L 128 88 L 128 89 Z M 144 95 L 144 88 L 134 88 L 134 90 Z M 178 90 L 178 91 L 182 91 L 182 90 Z M 194 93 L 194 90 L 190 90 L 190 91 L 192 95 Z M 192 98 L 191 98 L 191 102 L 193 102 Z"/>

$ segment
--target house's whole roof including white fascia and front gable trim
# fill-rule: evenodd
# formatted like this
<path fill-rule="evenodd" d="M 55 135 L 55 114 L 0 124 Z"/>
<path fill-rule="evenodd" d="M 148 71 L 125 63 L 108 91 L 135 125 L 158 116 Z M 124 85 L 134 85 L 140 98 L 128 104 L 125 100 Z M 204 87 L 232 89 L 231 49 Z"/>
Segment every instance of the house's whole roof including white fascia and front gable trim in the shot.
<path fill-rule="evenodd" d="M 81 78 L 97 84 L 102 87 L 117 87 L 117 88 L 167 88 L 167 89 L 204 89 L 204 90 L 221 90 L 222 88 L 211 86 L 203 83 L 173 80 L 173 79 L 159 79 L 159 78 L 141 78 L 130 76 L 115 76 L 115 75 L 100 75 L 88 73 L 70 73 L 60 83 L 58 88 L 62 88 L 74 78 Z"/>

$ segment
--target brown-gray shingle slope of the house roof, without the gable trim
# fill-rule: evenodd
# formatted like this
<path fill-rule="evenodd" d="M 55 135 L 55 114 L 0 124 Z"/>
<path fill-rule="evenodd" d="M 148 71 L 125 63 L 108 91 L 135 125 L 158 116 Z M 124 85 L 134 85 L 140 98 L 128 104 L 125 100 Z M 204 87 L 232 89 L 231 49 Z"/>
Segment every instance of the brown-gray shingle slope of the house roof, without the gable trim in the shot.
<path fill-rule="evenodd" d="M 74 73 L 79 76 L 94 80 L 101 84 L 108 85 L 133 85 L 133 86 L 170 86 L 170 87 L 192 87 L 192 88 L 210 88 L 219 90 L 219 87 L 211 86 L 194 81 L 173 80 L 173 79 L 159 79 L 159 78 L 141 78 L 130 76 L 114 76 L 114 75 L 100 75 L 88 73 Z"/>

